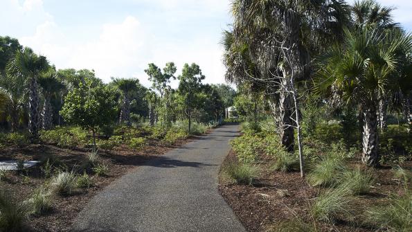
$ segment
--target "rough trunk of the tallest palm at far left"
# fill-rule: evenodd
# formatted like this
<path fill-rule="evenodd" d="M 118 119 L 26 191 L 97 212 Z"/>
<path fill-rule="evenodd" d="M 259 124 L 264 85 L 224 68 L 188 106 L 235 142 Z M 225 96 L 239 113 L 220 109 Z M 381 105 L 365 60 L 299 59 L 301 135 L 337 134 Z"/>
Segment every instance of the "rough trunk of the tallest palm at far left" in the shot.
<path fill-rule="evenodd" d="M 29 120 L 28 132 L 30 132 L 30 141 L 37 141 L 39 138 L 39 96 L 37 93 L 37 78 L 30 78 L 30 95 L 28 99 Z"/>

